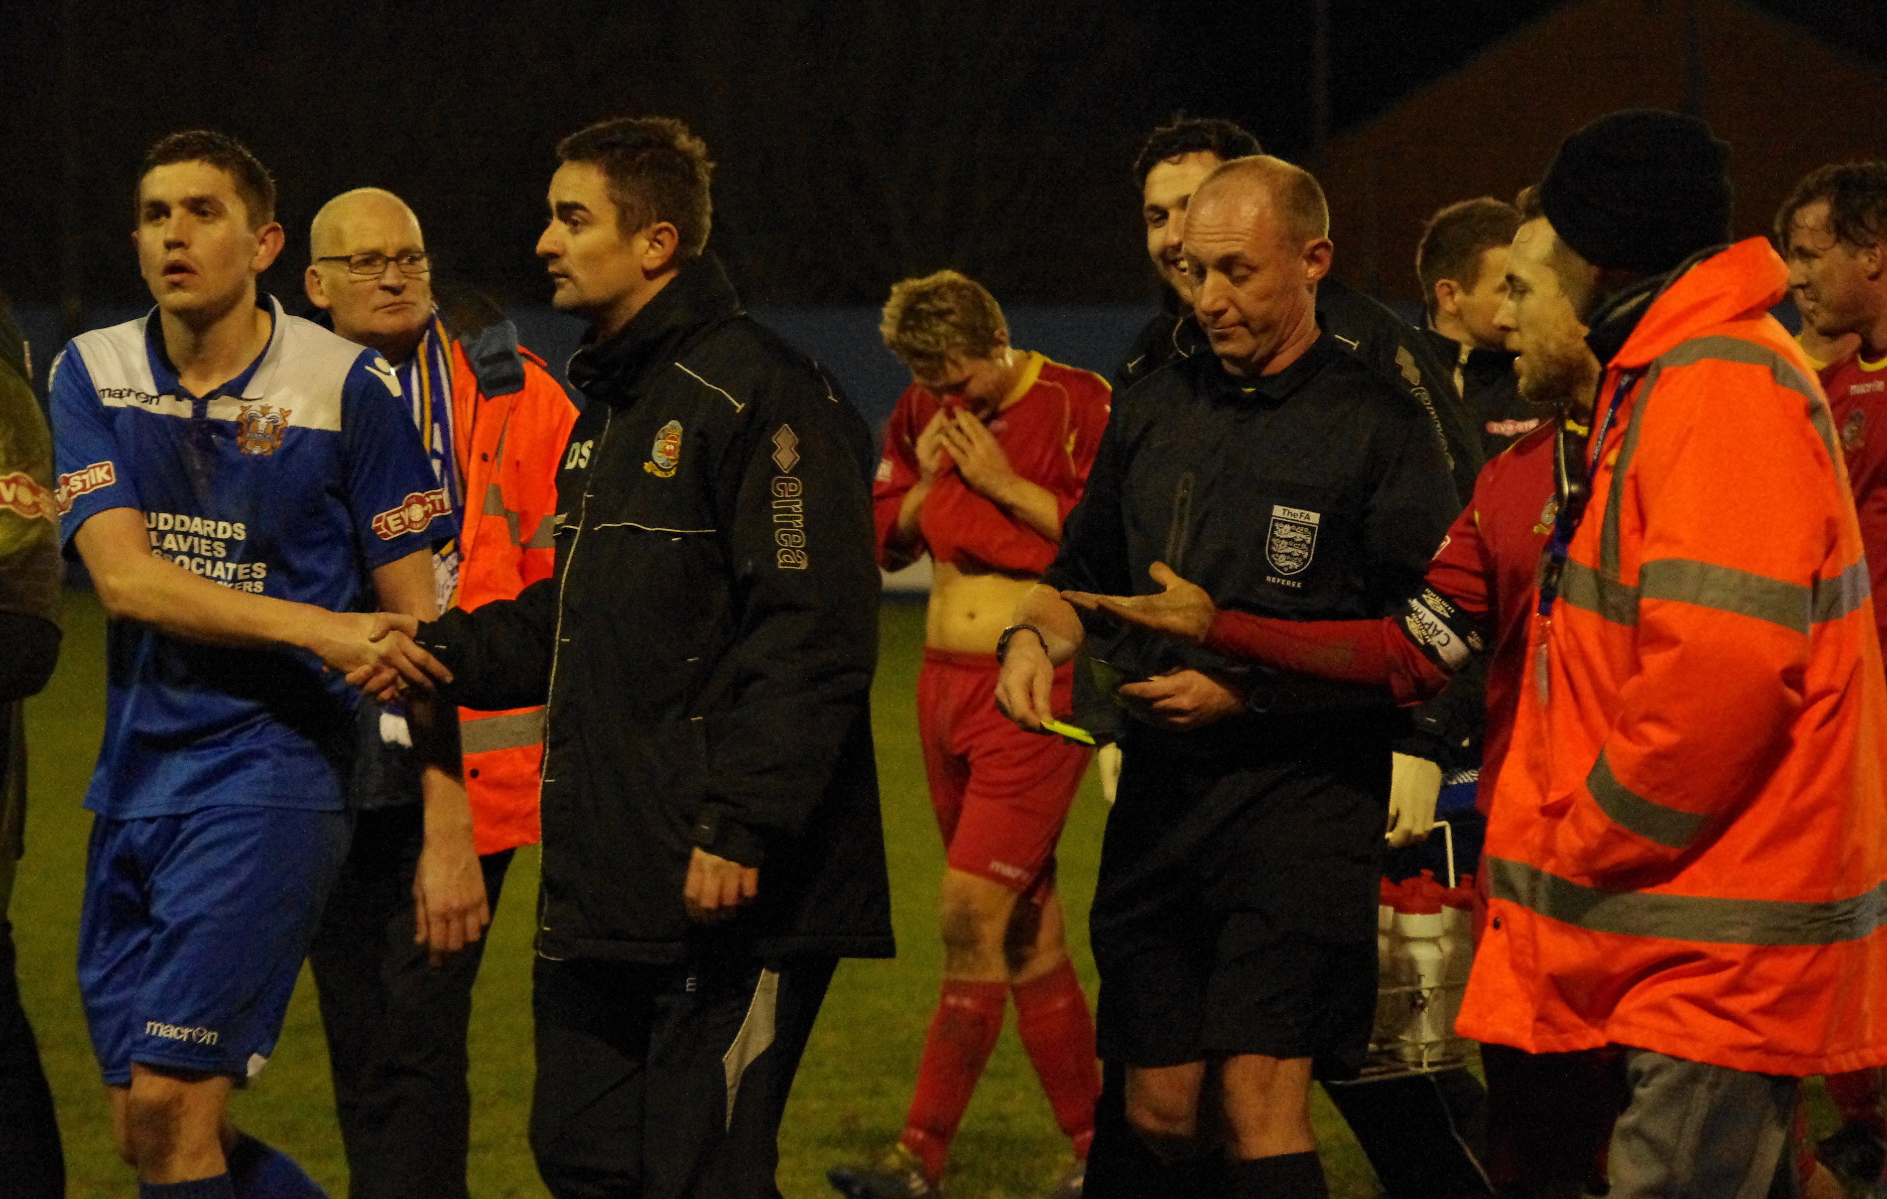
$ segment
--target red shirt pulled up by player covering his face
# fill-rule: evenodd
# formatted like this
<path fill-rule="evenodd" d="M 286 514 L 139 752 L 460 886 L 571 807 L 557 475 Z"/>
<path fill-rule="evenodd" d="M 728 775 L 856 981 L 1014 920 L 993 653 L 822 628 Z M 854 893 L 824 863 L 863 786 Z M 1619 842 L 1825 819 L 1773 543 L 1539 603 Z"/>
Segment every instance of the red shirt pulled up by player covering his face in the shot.
<path fill-rule="evenodd" d="M 1060 519 L 1066 521 L 1094 464 L 1111 393 L 1098 374 L 1051 363 L 1040 353 L 1027 359 L 1023 376 L 1010 393 L 1019 398 L 1006 398 L 987 427 L 1015 474 L 1053 493 Z M 921 542 L 891 551 L 898 508 L 919 478 L 917 434 L 938 408 L 934 395 L 911 383 L 898 397 L 885 427 L 885 457 L 877 463 L 877 480 L 872 483 L 877 561 L 887 570 L 896 570 L 928 549 L 934 561 L 970 570 L 1042 574 L 1055 561 L 1055 542 L 972 491 L 955 468 L 938 478 L 925 500 L 917 519 Z"/>

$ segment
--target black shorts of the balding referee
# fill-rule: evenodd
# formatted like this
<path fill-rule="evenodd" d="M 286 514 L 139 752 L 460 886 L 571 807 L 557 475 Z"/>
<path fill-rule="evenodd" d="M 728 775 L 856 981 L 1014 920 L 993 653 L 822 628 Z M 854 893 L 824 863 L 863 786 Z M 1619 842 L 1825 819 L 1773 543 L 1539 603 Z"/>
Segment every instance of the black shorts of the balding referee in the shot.
<path fill-rule="evenodd" d="M 1376 1016 L 1389 751 L 1232 765 L 1130 740 L 1091 916 L 1100 1055 L 1353 1078 Z"/>

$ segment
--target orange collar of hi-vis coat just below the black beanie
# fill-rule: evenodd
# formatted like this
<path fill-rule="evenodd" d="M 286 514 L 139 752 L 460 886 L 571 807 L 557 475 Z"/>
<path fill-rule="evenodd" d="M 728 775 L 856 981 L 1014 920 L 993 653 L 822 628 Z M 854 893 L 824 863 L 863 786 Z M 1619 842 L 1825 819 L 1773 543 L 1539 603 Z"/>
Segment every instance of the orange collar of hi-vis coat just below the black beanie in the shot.
<path fill-rule="evenodd" d="M 1702 329 L 1761 317 L 1787 287 L 1789 268 L 1768 240 L 1747 238 L 1634 285 L 1595 317 L 1585 342 L 1606 366 L 1638 370 Z"/>

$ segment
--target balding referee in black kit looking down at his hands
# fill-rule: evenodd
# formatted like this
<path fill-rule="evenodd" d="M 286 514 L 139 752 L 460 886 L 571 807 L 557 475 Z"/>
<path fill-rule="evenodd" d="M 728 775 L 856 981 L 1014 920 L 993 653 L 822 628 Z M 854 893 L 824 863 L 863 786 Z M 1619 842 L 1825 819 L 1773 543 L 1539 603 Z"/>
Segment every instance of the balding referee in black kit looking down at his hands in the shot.
<path fill-rule="evenodd" d="M 1055 565 L 1004 633 L 996 699 L 1023 727 L 1051 716 L 1053 665 L 1083 640 L 1059 589 L 1153 591 L 1159 561 L 1221 608 L 1294 619 L 1378 617 L 1417 589 L 1455 491 L 1421 414 L 1319 336 L 1330 253 L 1323 189 L 1296 166 L 1234 159 L 1193 196 L 1213 357 L 1115 400 Z M 1096 1156 L 1089 1195 L 1323 1195 L 1310 1082 L 1355 1074 L 1368 1044 L 1402 718 L 1204 648 L 1132 638 L 1111 665 L 1138 719 L 1091 918 L 1100 1054 L 1127 1063 L 1128 1120 L 1172 1169 L 1111 1178 Z"/>

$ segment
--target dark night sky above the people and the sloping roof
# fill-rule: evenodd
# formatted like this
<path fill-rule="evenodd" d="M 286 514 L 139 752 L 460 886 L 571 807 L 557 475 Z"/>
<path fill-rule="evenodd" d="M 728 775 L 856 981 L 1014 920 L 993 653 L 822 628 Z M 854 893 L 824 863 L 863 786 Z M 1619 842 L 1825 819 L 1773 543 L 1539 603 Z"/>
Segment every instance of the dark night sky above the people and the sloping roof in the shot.
<path fill-rule="evenodd" d="M 1332 127 L 1549 8 L 1332 0 Z M 1887 60 L 1887 6 L 1762 8 Z M 192 125 L 274 168 L 277 293 L 298 291 L 321 200 L 374 183 L 502 302 L 543 298 L 551 147 L 604 115 L 672 113 L 708 140 L 713 247 L 755 304 L 874 304 L 940 266 L 1006 300 L 1142 300 L 1128 162 L 1151 125 L 1185 108 L 1285 157 L 1311 142 L 1310 0 L 0 0 L 0 287 L 28 304 L 58 302 L 68 266 L 87 306 L 143 298 L 136 162 Z"/>

